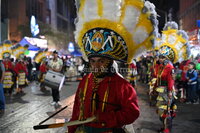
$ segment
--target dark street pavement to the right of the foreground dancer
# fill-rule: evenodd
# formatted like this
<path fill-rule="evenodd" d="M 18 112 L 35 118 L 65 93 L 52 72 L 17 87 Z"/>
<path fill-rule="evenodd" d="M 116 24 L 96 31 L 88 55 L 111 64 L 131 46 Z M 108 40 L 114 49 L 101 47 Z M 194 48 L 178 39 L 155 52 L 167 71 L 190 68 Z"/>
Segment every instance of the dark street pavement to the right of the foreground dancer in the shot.
<path fill-rule="evenodd" d="M 147 97 L 147 85 L 138 85 L 138 97 L 141 114 L 133 124 L 136 133 L 157 133 L 161 122 L 155 107 L 150 107 Z M 177 117 L 173 120 L 172 133 L 199 133 L 200 132 L 200 104 L 185 104 L 177 102 Z"/>

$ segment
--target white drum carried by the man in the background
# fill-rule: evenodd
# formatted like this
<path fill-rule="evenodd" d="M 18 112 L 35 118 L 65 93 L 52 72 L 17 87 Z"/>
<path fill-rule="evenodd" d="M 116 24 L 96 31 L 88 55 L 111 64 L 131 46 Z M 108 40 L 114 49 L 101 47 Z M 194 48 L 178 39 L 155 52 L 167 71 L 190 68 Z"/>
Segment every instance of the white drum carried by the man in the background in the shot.
<path fill-rule="evenodd" d="M 44 79 L 44 85 L 53 89 L 62 89 L 65 76 L 61 73 L 49 70 Z"/>

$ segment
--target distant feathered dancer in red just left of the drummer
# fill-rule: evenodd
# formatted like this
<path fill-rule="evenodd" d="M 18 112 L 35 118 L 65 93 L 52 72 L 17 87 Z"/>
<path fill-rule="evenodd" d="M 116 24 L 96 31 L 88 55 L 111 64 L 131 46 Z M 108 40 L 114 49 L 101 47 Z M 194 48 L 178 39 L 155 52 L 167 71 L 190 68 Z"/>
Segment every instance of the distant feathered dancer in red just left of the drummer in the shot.
<path fill-rule="evenodd" d="M 40 90 L 42 91 L 46 90 L 43 83 L 44 83 L 45 75 L 47 73 L 47 52 L 48 52 L 48 49 L 40 50 L 38 51 L 38 53 L 35 54 L 35 57 L 34 57 L 35 62 L 40 64 L 40 68 L 39 68 L 40 73 L 39 73 L 38 79 L 40 82 Z"/>

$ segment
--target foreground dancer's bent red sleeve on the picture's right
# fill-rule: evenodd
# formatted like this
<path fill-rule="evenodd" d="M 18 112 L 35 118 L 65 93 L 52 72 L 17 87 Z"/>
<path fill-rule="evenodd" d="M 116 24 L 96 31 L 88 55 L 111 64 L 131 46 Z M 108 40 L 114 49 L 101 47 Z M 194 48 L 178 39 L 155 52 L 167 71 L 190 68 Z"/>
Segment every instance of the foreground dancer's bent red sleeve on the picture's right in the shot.
<path fill-rule="evenodd" d="M 118 96 L 121 98 L 120 110 L 100 112 L 98 114 L 99 121 L 105 123 L 110 128 L 121 127 L 133 123 L 140 114 L 134 88 L 128 83 L 122 85 L 120 88 L 121 89 L 118 91 Z"/>

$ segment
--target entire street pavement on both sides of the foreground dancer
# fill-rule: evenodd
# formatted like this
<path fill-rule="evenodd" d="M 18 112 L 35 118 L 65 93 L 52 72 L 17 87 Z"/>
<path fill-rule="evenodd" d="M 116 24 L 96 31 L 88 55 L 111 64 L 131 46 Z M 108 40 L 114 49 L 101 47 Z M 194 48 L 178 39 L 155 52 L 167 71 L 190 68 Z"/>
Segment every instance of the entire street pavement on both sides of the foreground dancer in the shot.
<path fill-rule="evenodd" d="M 78 82 L 66 83 L 60 94 L 62 107 L 66 105 L 68 107 L 44 124 L 64 122 L 71 117 L 77 86 Z M 147 86 L 139 83 L 136 90 L 141 114 L 133 124 L 126 127 L 132 133 L 156 133 L 157 129 L 161 127 L 161 122 L 155 113 L 155 107 L 149 106 Z M 33 130 L 33 126 L 38 125 L 62 107 L 51 106 L 50 89 L 41 92 L 36 82 L 31 83 L 24 91 L 25 94 L 13 95 L 12 98 L 6 97 L 6 111 L 0 116 L 0 133 L 64 133 L 67 131 L 66 127 Z M 200 105 L 178 103 L 173 133 L 199 133 L 199 131 Z"/>

